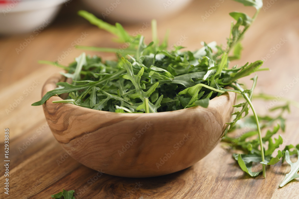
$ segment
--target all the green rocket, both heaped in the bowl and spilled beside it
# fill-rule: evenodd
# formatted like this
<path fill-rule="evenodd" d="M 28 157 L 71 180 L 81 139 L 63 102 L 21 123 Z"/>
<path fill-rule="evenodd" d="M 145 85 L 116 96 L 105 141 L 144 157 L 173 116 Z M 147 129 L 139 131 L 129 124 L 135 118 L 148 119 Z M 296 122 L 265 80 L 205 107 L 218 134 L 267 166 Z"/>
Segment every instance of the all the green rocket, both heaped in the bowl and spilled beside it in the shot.
<path fill-rule="evenodd" d="M 234 154 L 241 169 L 251 176 L 260 172 L 266 177 L 266 165 L 273 165 L 280 160 L 286 160 L 292 165 L 292 171 L 286 175 L 280 186 L 294 178 L 298 178 L 299 161 L 292 163 L 290 155 L 299 153 L 299 145 L 288 145 L 279 150 L 273 157 L 273 152 L 282 143 L 281 136 L 272 139 L 280 129 L 285 129 L 283 113 L 289 111 L 289 105 L 298 103 L 286 100 L 283 106 L 274 107 L 269 111 L 281 110 L 277 117 L 258 116 L 251 100 L 254 97 L 254 88 L 257 84 L 257 75 L 252 78 L 252 86 L 244 89 L 239 79 L 254 72 L 268 70 L 261 68 L 263 61 L 245 63 L 243 66 L 229 67 L 232 60 L 239 59 L 242 51 L 240 41 L 245 32 L 256 19 L 263 6 L 262 0 L 235 0 L 245 6 L 256 8 L 253 17 L 245 13 L 229 13 L 235 22 L 231 23 L 231 31 L 225 47 L 215 42 L 203 43 L 203 47 L 196 51 L 182 50 L 175 46 L 168 50 L 167 35 L 160 43 L 157 37 L 156 21 L 152 21 L 152 42 L 146 44 L 144 36 L 132 36 L 116 23 L 108 24 L 91 13 L 79 11 L 79 15 L 100 29 L 112 33 L 119 43 L 126 44 L 124 48 L 83 47 L 86 50 L 111 52 L 116 54 L 115 60 L 103 61 L 98 56 L 89 56 L 82 53 L 68 67 L 57 62 L 40 61 L 43 64 L 53 64 L 61 67 L 61 73 L 71 78 L 71 84 L 58 82 L 57 89 L 47 92 L 40 101 L 33 106 L 42 105 L 53 95 L 68 93 L 66 99 L 53 103 L 71 103 L 90 109 L 128 112 L 152 113 L 185 109 L 194 106 L 208 107 L 209 100 L 225 92 L 236 92 L 244 100 L 235 105 L 233 119 L 228 123 L 222 141 L 230 144 L 231 149 L 240 149 L 243 154 Z M 265 100 L 271 96 L 258 95 Z M 249 110 L 253 115 L 248 115 Z M 242 120 L 241 120 L 242 119 Z M 279 123 L 277 126 L 275 124 Z M 250 131 L 237 137 L 230 137 L 230 132 L 237 128 L 251 124 Z M 254 124 L 254 127 L 252 126 Z M 262 137 L 261 130 L 268 130 Z M 258 138 L 255 136 L 258 135 Z M 264 149 L 267 145 L 267 149 Z M 254 163 L 261 163 L 263 169 L 252 172 Z"/>

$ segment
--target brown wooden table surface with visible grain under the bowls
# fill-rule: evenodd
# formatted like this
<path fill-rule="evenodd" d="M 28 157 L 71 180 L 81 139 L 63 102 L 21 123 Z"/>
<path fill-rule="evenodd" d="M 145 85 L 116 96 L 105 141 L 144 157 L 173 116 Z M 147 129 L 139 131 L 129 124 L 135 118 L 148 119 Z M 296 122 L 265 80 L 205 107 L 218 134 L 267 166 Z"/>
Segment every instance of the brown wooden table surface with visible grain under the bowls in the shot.
<path fill-rule="evenodd" d="M 220 2 L 205 21 L 202 15 L 210 6 Z M 223 2 L 223 3 L 221 3 Z M 269 1 L 270 2 L 270 1 Z M 0 164 L 0 198 L 51 198 L 63 189 L 75 190 L 77 198 L 299 198 L 299 181 L 294 180 L 279 189 L 279 183 L 290 170 L 286 163 L 267 167 L 267 178 L 261 175 L 251 178 L 245 175 L 232 159 L 231 153 L 221 144 L 194 166 L 183 171 L 155 178 L 120 178 L 100 173 L 77 163 L 54 139 L 43 114 L 42 107 L 32 107 L 40 99 L 45 80 L 59 69 L 38 64 L 38 60 L 55 61 L 59 58 L 67 65 L 82 50 L 71 43 L 82 34 L 80 45 L 119 47 L 109 33 L 98 30 L 76 16 L 78 1 L 64 7 L 59 19 L 41 33 L 0 37 L 0 126 L 1 147 L 4 149 L 4 128 L 9 128 L 9 195 L 4 194 L 4 162 Z M 234 64 L 253 62 L 262 57 L 268 60 L 264 67 L 271 71 L 259 72 L 256 92 L 299 98 L 299 1 L 271 1 L 269 9 L 261 10 L 257 21 L 245 35 L 242 59 Z M 274 3 L 274 4 L 273 4 Z M 267 1 L 264 2 L 267 4 Z M 270 7 L 271 6 L 271 7 Z M 254 8 L 244 7 L 234 1 L 194 1 L 178 15 L 158 20 L 159 37 L 170 29 L 170 44 L 185 38 L 181 45 L 190 50 L 201 47 L 200 42 L 225 43 L 230 29 L 231 11 L 245 11 L 249 15 Z M 150 21 L 144 21 L 150 23 Z M 143 26 L 124 24 L 130 33 Z M 0 27 L 1 28 L 1 27 Z M 150 41 L 150 27 L 143 33 Z M 19 53 L 16 48 L 25 39 L 34 39 Z M 80 41 L 80 40 L 79 40 Z M 281 42 L 283 41 L 283 42 Z M 277 47 L 276 50 L 273 47 Z M 62 56 L 71 48 L 68 56 Z M 104 57 L 111 54 L 87 52 Z M 250 84 L 249 78 L 245 83 Z M 295 82 L 294 84 L 291 84 Z M 286 91 L 286 85 L 292 86 Z M 15 103 L 15 104 L 14 104 Z M 17 103 L 17 104 L 16 104 Z M 258 112 L 264 113 L 269 102 L 254 101 Z M 12 107 L 10 107 L 12 106 Z M 13 107 L 15 106 L 15 107 Z M 11 108 L 11 112 L 7 112 Z M 299 111 L 292 109 L 288 115 L 286 132 L 282 134 L 286 144 L 299 143 Z M 3 154 L 3 152 L 1 152 Z M 65 158 L 63 158 L 65 156 Z M 1 155 L 3 161 L 4 155 Z M 138 190 L 135 190 L 135 185 Z"/>

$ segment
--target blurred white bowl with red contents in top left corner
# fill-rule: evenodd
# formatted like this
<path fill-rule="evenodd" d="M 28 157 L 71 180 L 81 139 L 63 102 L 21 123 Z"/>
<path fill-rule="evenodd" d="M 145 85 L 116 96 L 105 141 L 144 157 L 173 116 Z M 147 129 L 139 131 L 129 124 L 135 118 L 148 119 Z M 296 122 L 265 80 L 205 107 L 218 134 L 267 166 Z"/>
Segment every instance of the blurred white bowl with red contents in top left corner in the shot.
<path fill-rule="evenodd" d="M 10 0 L 0 4 L 0 34 L 43 30 L 69 0 Z"/>

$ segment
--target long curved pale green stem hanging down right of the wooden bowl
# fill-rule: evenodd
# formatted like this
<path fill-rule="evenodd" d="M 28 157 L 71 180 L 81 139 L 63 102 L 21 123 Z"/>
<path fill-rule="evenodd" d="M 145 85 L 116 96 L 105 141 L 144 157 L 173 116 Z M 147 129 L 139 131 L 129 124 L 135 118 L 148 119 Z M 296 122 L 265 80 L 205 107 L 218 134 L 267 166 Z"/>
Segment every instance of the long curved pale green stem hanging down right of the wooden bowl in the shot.
<path fill-rule="evenodd" d="M 236 86 L 238 87 L 238 89 L 240 91 L 244 91 L 244 89 L 236 83 Z M 251 93 L 252 95 L 252 93 Z M 260 129 L 260 123 L 259 123 L 259 119 L 257 117 L 257 113 L 253 107 L 253 104 L 248 96 L 247 93 L 242 93 L 242 96 L 245 98 L 245 100 L 248 102 L 249 106 L 251 107 L 252 109 L 252 112 L 253 112 L 253 115 L 254 115 L 254 119 L 255 119 L 255 122 L 257 124 L 257 132 L 259 134 L 259 140 L 260 140 L 260 147 L 261 147 L 261 156 L 262 156 L 262 162 L 265 162 L 265 155 L 264 155 L 264 147 L 263 147 L 263 140 L 262 140 L 262 133 L 261 133 L 261 129 Z M 264 164 L 262 164 L 263 166 L 263 177 L 266 178 L 266 166 Z"/>

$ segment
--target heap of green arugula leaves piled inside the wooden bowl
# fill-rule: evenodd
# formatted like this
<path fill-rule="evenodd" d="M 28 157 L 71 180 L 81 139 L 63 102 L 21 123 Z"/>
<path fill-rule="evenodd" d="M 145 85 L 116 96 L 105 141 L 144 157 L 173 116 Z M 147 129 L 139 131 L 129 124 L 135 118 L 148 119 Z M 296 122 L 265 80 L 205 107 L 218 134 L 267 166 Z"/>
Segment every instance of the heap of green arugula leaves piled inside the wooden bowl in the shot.
<path fill-rule="evenodd" d="M 143 36 L 131 36 L 118 23 L 115 26 L 108 24 L 83 10 L 79 11 L 79 15 L 115 35 L 115 41 L 125 43 L 126 47 L 79 47 L 116 53 L 116 60 L 102 62 L 97 56 L 82 53 L 69 67 L 50 63 L 66 69 L 67 72 L 62 75 L 72 78 L 73 83 L 57 83 L 57 89 L 48 92 L 33 106 L 45 103 L 53 95 L 68 93 L 68 98 L 54 103 L 71 103 L 112 112 L 164 112 L 193 106 L 208 107 L 210 99 L 226 91 L 241 93 L 234 84 L 239 78 L 260 70 L 263 64 L 263 61 L 256 61 L 228 69 L 230 59 L 240 58 L 242 46 L 237 42 L 241 39 L 239 27 L 249 27 L 254 21 L 244 13 L 230 14 L 242 23 L 234 25 L 227 52 L 215 43 L 204 44 L 195 52 L 183 52 L 180 46 L 167 50 L 167 36 L 159 45 L 155 20 L 152 21 L 153 42 L 147 45 Z M 234 55 L 229 57 L 228 52 L 232 48 Z M 225 89 L 227 86 L 234 90 Z M 248 111 L 248 107 L 244 111 Z"/>

